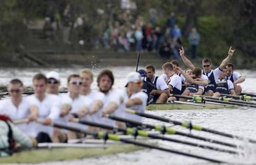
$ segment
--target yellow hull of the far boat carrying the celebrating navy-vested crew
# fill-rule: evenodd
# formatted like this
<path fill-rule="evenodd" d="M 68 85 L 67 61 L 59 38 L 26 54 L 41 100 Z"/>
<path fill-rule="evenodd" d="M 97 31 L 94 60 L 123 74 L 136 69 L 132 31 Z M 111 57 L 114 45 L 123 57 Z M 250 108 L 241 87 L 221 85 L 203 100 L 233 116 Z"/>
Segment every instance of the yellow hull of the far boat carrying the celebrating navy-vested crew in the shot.
<path fill-rule="evenodd" d="M 232 104 L 218 104 L 218 103 L 200 103 L 201 106 L 196 106 L 192 104 L 179 104 L 179 103 L 163 103 L 163 104 L 148 104 L 147 110 L 176 110 L 176 109 L 224 109 L 224 108 L 234 108 L 235 105 Z"/>

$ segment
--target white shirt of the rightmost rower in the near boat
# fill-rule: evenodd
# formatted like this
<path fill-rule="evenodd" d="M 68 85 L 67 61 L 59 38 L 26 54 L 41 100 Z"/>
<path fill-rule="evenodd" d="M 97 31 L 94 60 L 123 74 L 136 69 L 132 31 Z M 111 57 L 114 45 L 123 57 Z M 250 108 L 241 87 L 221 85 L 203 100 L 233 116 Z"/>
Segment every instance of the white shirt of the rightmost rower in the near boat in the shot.
<path fill-rule="evenodd" d="M 126 92 L 126 91 L 125 91 Z M 140 105 L 135 105 L 135 106 L 130 106 L 128 107 L 129 109 L 133 109 L 137 112 L 144 112 L 145 111 L 145 106 L 147 106 L 147 100 L 148 100 L 148 95 L 142 91 L 139 91 L 138 93 L 133 93 L 130 96 L 130 99 L 134 99 L 134 98 L 139 98 L 142 101 L 142 104 Z M 127 96 L 127 92 L 126 92 L 126 101 L 127 101 L 128 96 Z M 126 103 L 125 101 L 125 103 Z M 142 117 L 140 117 L 139 115 L 135 115 L 135 114 L 130 114 L 130 113 L 125 113 L 125 117 L 126 119 L 130 119 L 132 121 L 142 121 Z"/>

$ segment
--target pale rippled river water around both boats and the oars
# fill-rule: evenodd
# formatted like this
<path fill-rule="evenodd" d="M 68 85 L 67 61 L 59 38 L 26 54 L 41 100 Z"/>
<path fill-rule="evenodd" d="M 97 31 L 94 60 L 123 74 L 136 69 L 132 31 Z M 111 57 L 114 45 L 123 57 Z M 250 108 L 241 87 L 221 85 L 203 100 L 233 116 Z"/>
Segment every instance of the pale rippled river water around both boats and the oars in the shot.
<path fill-rule="evenodd" d="M 34 74 L 41 72 L 46 74 L 50 70 L 56 70 L 61 74 L 61 87 L 66 87 L 66 78 L 69 74 L 79 72 L 77 68 L 67 69 L 0 69 L 0 85 L 7 85 L 12 78 L 20 78 L 25 86 L 32 84 L 32 77 Z M 126 83 L 126 75 L 129 72 L 134 71 L 134 67 L 110 67 L 113 70 L 115 76 L 114 88 L 122 88 Z M 93 74 L 98 75 L 99 69 L 93 69 Z M 255 70 L 239 70 L 239 72 L 245 76 L 246 80 L 241 84 L 244 92 L 256 93 L 256 71 Z M 160 75 L 161 70 L 156 70 L 156 74 Z M 95 78 L 96 79 L 96 78 Z M 93 82 L 93 88 L 96 88 L 96 82 Z M 204 127 L 221 130 L 227 133 L 233 133 L 234 135 L 241 135 L 244 137 L 250 137 L 256 139 L 256 109 L 255 108 L 236 108 L 236 109 L 205 109 L 205 110 L 171 110 L 171 111 L 150 111 L 150 114 L 158 116 L 171 117 L 177 121 L 191 121 L 195 124 L 203 125 Z M 143 119 L 144 122 L 151 124 L 162 124 L 161 122 Z M 168 125 L 168 124 L 167 124 Z M 169 124 L 170 125 L 170 124 Z M 175 129 L 183 132 L 189 132 L 179 126 L 174 126 Z M 215 138 L 223 140 L 229 143 L 239 143 L 244 146 L 244 150 L 241 150 L 243 154 L 231 155 L 227 153 L 220 153 L 217 151 L 210 151 L 204 149 L 198 149 L 195 147 L 188 147 L 186 145 L 177 145 L 176 143 L 158 141 L 159 146 L 166 148 L 172 148 L 179 151 L 198 154 L 200 156 L 206 156 L 208 158 L 215 158 L 228 162 L 228 164 L 256 164 L 256 145 L 251 145 L 244 141 L 231 140 L 229 138 L 223 138 L 220 136 L 212 135 L 210 133 L 203 133 L 192 131 L 196 135 L 202 135 L 208 138 Z M 199 142 L 197 140 L 190 140 L 188 138 L 174 135 L 181 140 L 188 140 L 189 142 Z M 218 146 L 218 145 L 212 145 Z M 79 159 L 74 161 L 64 161 L 58 163 L 41 163 L 41 164 L 213 164 L 207 161 L 199 159 L 188 158 L 185 156 L 179 156 L 177 154 L 165 153 L 157 150 L 142 150 L 134 153 L 120 153 L 113 156 L 103 156 L 100 158 Z"/>

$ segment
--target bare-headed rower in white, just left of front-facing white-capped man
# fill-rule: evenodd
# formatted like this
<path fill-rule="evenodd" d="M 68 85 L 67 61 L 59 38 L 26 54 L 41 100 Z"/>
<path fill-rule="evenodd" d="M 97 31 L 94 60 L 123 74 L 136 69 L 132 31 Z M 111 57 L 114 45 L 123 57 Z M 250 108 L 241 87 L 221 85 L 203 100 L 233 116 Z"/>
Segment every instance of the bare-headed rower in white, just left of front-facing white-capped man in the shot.
<path fill-rule="evenodd" d="M 47 78 L 43 74 L 36 74 L 33 77 L 33 90 L 35 94 L 28 96 L 30 109 L 36 112 L 36 117 L 41 121 L 30 123 L 32 137 L 36 137 L 38 143 L 52 142 L 53 127 L 48 126 L 59 118 L 61 112 L 61 100 L 58 96 L 47 94 Z M 34 118 L 33 118 L 34 119 Z"/>

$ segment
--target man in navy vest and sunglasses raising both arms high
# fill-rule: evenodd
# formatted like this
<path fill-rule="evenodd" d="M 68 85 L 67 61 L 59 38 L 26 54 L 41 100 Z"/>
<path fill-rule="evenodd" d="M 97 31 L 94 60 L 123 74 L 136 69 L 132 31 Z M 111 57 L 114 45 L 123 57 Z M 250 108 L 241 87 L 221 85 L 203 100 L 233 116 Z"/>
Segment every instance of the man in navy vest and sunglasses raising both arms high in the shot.
<path fill-rule="evenodd" d="M 211 59 L 205 58 L 202 60 L 202 66 L 203 66 L 202 72 L 204 75 L 207 75 L 207 77 L 209 79 L 208 85 L 205 88 L 205 95 L 213 96 L 213 93 L 215 92 L 215 89 L 216 89 L 216 82 L 218 79 L 218 75 L 221 74 L 222 70 L 224 69 L 226 64 L 228 64 L 228 62 L 230 61 L 231 57 L 234 54 L 235 50 L 231 49 L 231 48 L 232 47 L 229 48 L 228 56 L 221 62 L 220 66 L 214 70 L 211 69 Z M 181 58 L 182 58 L 182 61 L 184 62 L 184 64 L 187 67 L 190 67 L 192 70 L 194 70 L 195 66 L 185 56 L 185 51 L 184 51 L 183 47 L 182 47 L 182 49 L 180 49 L 179 54 L 181 55 Z"/>

